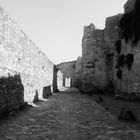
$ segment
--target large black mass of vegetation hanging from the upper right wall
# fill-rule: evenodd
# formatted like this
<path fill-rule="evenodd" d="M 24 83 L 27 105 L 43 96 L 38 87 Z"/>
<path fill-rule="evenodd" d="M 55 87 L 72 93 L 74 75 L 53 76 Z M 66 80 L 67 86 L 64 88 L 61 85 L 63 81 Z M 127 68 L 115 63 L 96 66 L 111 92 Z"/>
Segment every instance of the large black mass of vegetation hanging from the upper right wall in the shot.
<path fill-rule="evenodd" d="M 125 13 L 120 20 L 121 37 L 134 45 L 140 40 L 140 0 L 136 0 L 134 9 Z"/>

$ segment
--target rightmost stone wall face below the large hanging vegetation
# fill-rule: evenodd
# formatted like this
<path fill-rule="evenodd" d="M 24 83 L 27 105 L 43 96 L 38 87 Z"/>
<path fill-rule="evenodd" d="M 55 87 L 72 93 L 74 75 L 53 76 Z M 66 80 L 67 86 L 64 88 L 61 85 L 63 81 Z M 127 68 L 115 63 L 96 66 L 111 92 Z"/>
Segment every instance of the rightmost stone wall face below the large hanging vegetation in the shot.
<path fill-rule="evenodd" d="M 132 42 L 126 43 L 122 40 L 121 54 L 125 61 L 120 66 L 121 77 L 116 77 L 116 87 L 119 91 L 125 93 L 140 93 L 140 43 L 133 46 Z M 130 64 L 128 56 L 132 56 L 133 62 Z"/>

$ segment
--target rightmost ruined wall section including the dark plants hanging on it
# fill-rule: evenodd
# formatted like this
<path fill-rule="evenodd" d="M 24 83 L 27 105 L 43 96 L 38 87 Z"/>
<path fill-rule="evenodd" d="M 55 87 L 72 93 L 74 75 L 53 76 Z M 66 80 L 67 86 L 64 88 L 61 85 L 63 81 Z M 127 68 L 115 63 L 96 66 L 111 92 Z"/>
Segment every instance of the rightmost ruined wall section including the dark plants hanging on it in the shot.
<path fill-rule="evenodd" d="M 135 6 L 135 2 L 137 5 Z M 140 2 L 128 0 L 120 20 L 121 51 L 118 55 L 116 88 L 124 93 L 140 93 Z M 129 22 L 128 22 L 129 20 Z M 134 22 L 135 21 L 135 22 Z"/>

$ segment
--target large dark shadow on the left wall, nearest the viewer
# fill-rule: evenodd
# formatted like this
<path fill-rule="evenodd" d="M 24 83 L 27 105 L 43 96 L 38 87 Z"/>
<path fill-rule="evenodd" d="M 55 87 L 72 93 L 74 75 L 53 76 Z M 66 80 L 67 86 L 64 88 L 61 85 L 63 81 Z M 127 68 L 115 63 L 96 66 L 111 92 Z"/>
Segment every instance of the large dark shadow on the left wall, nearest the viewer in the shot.
<path fill-rule="evenodd" d="M 24 87 L 20 75 L 0 78 L 0 115 L 24 106 Z"/>

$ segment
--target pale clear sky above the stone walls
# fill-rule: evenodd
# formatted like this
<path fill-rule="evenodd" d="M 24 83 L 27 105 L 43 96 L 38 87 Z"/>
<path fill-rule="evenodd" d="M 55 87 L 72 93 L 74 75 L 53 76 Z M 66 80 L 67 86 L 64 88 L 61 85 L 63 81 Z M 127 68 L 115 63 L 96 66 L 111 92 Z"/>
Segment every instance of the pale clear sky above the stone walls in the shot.
<path fill-rule="evenodd" d="M 0 0 L 19 27 L 55 64 L 82 54 L 84 25 L 103 29 L 126 0 Z"/>

